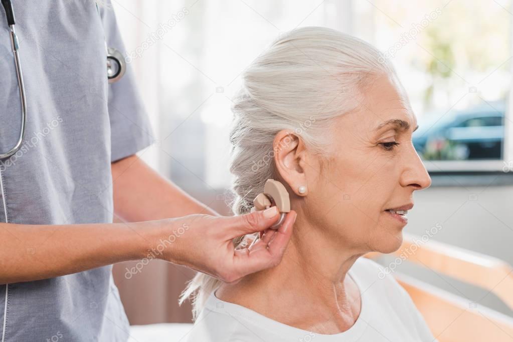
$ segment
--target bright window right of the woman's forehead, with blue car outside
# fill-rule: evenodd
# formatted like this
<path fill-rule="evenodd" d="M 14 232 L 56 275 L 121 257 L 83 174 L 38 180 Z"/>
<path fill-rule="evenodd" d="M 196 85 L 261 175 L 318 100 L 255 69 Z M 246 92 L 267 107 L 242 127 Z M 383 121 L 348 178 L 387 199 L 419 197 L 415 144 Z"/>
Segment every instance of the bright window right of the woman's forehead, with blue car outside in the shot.
<path fill-rule="evenodd" d="M 406 88 L 420 125 L 413 144 L 427 168 L 510 165 L 510 2 L 354 5 L 367 18 L 354 33 L 392 60 Z"/>

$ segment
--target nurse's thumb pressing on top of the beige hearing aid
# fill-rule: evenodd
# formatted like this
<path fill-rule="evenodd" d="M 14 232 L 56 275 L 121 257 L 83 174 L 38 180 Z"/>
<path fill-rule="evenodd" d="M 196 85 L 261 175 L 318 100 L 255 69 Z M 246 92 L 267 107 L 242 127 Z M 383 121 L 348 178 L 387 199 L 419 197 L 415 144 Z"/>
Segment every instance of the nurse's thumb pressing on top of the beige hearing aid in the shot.
<path fill-rule="evenodd" d="M 280 218 L 278 208 L 275 206 L 266 210 L 253 211 L 244 215 L 225 217 L 224 227 L 229 232 L 228 239 L 240 237 L 244 234 L 250 234 L 263 231 L 272 226 Z"/>

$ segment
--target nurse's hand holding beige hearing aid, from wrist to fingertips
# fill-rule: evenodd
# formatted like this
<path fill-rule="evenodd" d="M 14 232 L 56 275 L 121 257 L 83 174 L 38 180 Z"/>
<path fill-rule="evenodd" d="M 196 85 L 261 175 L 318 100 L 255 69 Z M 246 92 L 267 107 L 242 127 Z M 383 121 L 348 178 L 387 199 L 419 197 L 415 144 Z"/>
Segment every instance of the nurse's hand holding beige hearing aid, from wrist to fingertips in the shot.
<path fill-rule="evenodd" d="M 152 236 L 156 239 L 150 249 L 159 259 L 236 283 L 247 274 L 281 262 L 296 216 L 291 210 L 278 230 L 266 229 L 280 217 L 274 206 L 241 216 L 197 214 L 153 221 L 156 234 Z M 235 250 L 232 239 L 254 232 L 264 232 L 262 239 L 251 249 Z"/>

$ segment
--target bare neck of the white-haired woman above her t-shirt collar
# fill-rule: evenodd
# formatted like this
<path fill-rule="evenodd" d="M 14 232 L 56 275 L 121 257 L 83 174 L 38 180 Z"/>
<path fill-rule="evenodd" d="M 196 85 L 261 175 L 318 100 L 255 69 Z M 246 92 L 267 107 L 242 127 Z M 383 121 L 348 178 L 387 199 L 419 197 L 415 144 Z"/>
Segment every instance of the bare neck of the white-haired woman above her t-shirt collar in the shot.
<path fill-rule="evenodd" d="M 345 331 L 361 310 L 358 286 L 346 275 L 363 253 L 322 241 L 326 237 L 315 230 L 306 239 L 305 230 L 296 228 L 278 266 L 223 284 L 216 296 L 303 330 Z"/>

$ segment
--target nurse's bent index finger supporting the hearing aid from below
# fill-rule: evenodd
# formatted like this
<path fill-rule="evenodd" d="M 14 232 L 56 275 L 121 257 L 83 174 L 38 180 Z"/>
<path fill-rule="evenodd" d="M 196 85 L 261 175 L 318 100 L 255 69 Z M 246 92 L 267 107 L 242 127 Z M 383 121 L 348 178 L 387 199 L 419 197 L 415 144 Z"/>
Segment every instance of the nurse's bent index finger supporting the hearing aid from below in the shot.
<path fill-rule="evenodd" d="M 274 238 L 269 248 L 261 248 L 258 246 L 262 241 L 255 243 L 254 250 L 242 249 L 235 250 L 233 258 L 233 271 L 240 274 L 241 277 L 253 272 L 278 265 L 285 253 L 290 237 L 292 236 L 292 228 L 297 214 L 291 210 L 280 229 L 273 234 Z"/>

